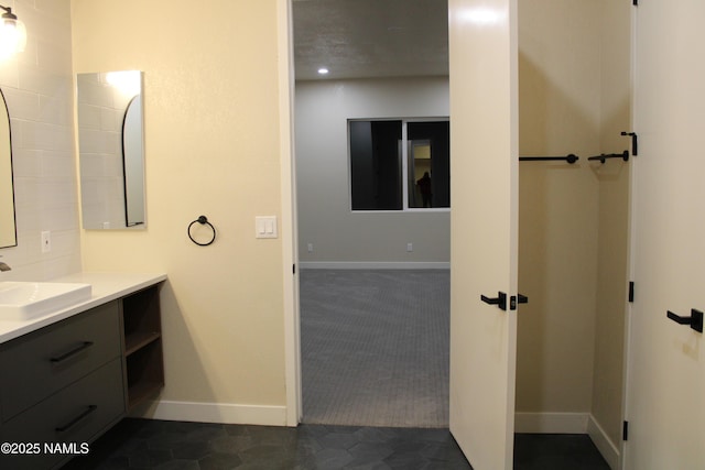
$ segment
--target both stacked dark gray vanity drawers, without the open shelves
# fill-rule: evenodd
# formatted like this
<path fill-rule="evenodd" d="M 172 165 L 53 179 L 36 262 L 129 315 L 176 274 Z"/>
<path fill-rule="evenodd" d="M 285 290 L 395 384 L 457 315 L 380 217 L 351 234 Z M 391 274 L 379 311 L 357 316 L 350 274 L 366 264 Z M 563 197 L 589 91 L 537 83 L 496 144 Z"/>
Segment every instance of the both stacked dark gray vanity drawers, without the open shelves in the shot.
<path fill-rule="evenodd" d="M 80 446 L 122 418 L 119 314 L 113 300 L 0 346 L 0 442 L 24 446 L 2 468 L 52 468 L 68 456 L 45 445 Z"/>

